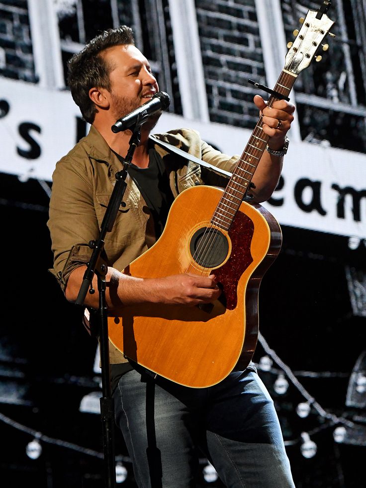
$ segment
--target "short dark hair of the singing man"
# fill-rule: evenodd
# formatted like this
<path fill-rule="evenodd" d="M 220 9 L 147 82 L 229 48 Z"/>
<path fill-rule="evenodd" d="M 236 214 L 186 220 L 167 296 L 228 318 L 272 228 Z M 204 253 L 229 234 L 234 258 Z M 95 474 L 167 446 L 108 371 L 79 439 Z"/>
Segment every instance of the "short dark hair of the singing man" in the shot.
<path fill-rule="evenodd" d="M 67 82 L 75 103 L 84 119 L 92 124 L 96 107 L 89 97 L 93 86 L 110 89 L 109 73 L 111 66 L 100 56 L 102 51 L 113 46 L 135 44 L 132 29 L 121 25 L 117 29 L 107 29 L 91 39 L 80 53 L 68 61 Z"/>

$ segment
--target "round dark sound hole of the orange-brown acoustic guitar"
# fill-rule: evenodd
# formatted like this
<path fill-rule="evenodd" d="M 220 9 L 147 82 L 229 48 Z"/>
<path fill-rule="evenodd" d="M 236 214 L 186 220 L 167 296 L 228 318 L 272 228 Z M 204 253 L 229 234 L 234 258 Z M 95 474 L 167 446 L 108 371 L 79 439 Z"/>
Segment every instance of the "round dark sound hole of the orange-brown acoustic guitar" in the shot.
<path fill-rule="evenodd" d="M 193 234 L 189 249 L 196 263 L 204 268 L 214 268 L 225 261 L 229 243 L 218 229 L 202 227 Z"/>

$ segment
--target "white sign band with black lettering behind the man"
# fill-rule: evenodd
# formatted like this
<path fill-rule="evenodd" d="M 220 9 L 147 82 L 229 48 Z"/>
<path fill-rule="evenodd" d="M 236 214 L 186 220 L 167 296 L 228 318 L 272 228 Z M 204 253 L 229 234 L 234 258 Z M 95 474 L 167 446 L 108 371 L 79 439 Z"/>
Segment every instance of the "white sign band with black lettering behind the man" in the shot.
<path fill-rule="evenodd" d="M 87 124 L 69 91 L 4 78 L 0 86 L 0 172 L 50 182 L 57 160 L 88 131 Z M 247 129 L 170 113 L 155 132 L 179 127 L 198 130 L 229 155 L 241 155 L 250 137 Z M 282 177 L 265 206 L 283 225 L 365 239 L 366 155 L 332 148 L 327 141 L 291 141 Z"/>

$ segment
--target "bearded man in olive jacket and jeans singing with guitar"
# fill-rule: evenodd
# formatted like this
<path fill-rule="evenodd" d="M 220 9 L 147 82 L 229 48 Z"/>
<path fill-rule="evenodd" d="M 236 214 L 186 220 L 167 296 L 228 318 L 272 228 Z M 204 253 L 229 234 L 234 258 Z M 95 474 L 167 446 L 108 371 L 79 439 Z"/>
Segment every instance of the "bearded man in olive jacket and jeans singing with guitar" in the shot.
<path fill-rule="evenodd" d="M 56 165 L 48 226 L 53 273 L 66 298 L 74 302 L 91 254 L 87 243 L 99 235 L 115 173 L 129 149 L 131 132 L 114 134 L 111 126 L 159 88 L 126 26 L 102 33 L 73 56 L 68 82 L 91 130 Z M 271 196 L 278 182 L 282 166 L 278 155 L 294 107 L 281 100 L 269 108 L 258 95 L 254 101 L 264 115 L 263 130 L 270 136 L 268 151 L 253 177 L 254 201 L 261 202 Z M 207 183 L 197 165 L 172 157 L 149 140 L 158 116 L 154 114 L 141 127 L 141 144 L 129 169 L 124 206 L 105 238 L 106 301 L 111 316 L 122 316 L 124 306 L 130 304 L 192 307 L 210 303 L 221 293 L 214 274 L 145 279 L 121 272 L 160 236 L 174 197 L 187 186 Z M 214 150 L 192 130 L 156 137 L 228 171 L 238 159 Z M 88 294 L 85 304 L 97 309 L 97 292 Z M 226 486 L 293 487 L 273 402 L 252 364 L 218 385 L 193 389 L 153 378 L 111 343 L 110 363 L 116 421 L 139 487 L 194 487 L 198 449 Z"/>

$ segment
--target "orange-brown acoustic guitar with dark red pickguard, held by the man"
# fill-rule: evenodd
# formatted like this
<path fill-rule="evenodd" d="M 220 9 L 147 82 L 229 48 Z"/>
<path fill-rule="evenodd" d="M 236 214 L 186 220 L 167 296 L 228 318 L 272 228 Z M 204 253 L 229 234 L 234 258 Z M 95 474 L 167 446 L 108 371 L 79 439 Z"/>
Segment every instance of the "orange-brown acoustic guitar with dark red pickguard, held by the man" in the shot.
<path fill-rule="evenodd" d="M 269 106 L 288 96 L 328 34 L 334 23 L 325 14 L 329 3 L 308 11 L 288 46 Z M 214 272 L 222 287 L 219 299 L 195 307 L 127 306 L 122 317 L 108 318 L 109 339 L 117 349 L 181 385 L 217 384 L 231 371 L 244 369 L 255 351 L 259 287 L 281 246 L 281 230 L 270 212 L 243 201 L 269 139 L 262 124 L 261 116 L 227 187 L 184 190 L 171 207 L 160 239 L 124 271 L 147 278 Z"/>

